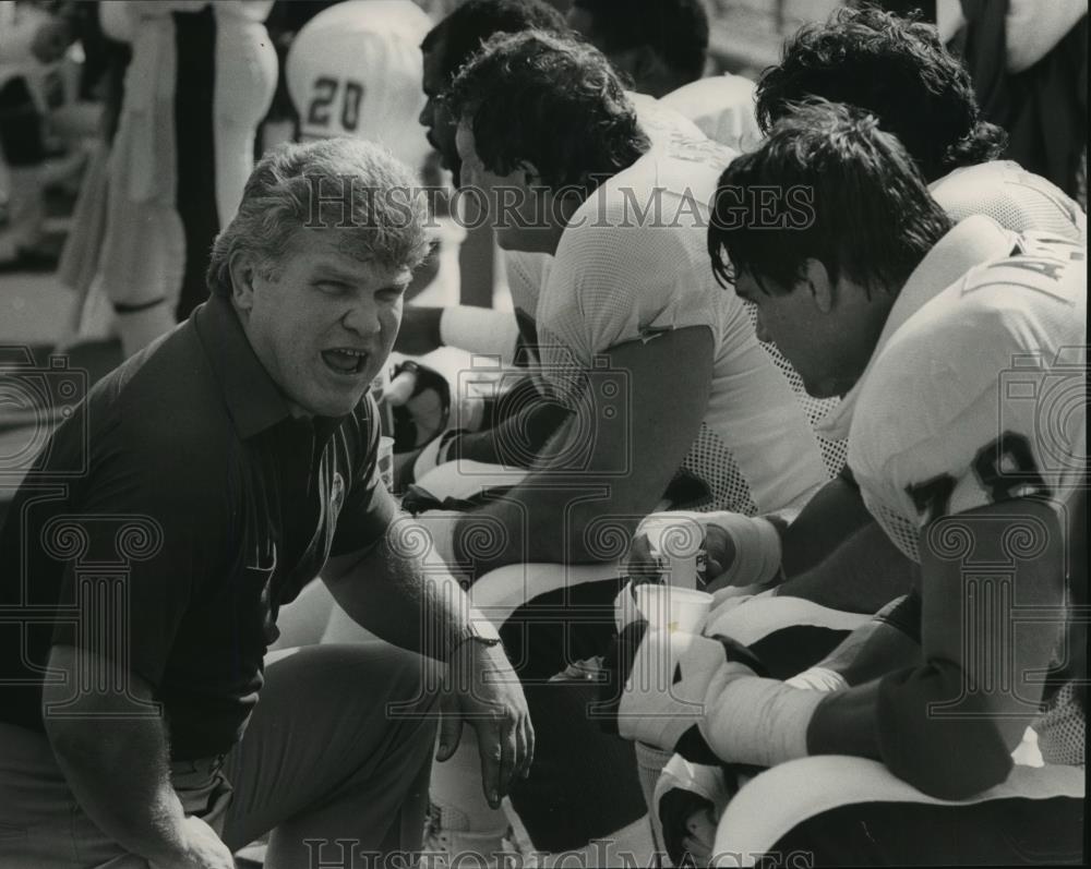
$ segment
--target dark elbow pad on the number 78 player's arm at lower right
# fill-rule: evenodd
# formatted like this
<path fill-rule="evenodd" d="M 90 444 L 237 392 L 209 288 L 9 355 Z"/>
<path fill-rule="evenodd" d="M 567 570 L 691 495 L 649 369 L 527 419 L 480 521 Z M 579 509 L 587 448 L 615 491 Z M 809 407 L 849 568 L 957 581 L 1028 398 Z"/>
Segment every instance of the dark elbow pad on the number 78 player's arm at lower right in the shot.
<path fill-rule="evenodd" d="M 966 674 L 949 661 L 891 673 L 879 683 L 876 726 L 883 762 L 938 799 L 966 799 L 999 784 L 1011 771 L 1011 749 L 987 702 L 966 693 L 964 685 Z M 950 708 L 930 712 L 934 703 Z"/>

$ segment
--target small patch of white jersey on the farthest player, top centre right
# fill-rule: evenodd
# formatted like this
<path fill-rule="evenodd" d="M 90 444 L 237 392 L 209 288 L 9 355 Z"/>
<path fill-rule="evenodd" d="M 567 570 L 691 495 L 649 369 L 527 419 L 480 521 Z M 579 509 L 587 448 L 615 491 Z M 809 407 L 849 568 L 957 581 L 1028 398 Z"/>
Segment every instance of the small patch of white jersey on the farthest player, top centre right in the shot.
<path fill-rule="evenodd" d="M 659 101 L 688 118 L 714 142 L 745 154 L 764 138 L 754 112 L 756 89 L 744 75 L 728 73 L 698 79 Z"/>

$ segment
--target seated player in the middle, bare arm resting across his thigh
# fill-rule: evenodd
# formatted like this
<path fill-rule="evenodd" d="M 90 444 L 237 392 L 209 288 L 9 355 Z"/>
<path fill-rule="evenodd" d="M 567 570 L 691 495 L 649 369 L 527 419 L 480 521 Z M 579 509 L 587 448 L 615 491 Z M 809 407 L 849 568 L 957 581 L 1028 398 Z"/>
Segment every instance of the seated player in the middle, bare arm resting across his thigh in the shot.
<path fill-rule="evenodd" d="M 595 787 L 633 793 L 627 746 L 627 779 L 592 757 L 586 765 L 599 774 L 586 787 L 580 775 L 580 799 L 571 798 L 584 755 L 572 728 L 555 721 L 570 692 L 535 684 L 609 640 L 612 618 L 588 626 L 586 616 L 611 606 L 614 563 L 636 522 L 660 502 L 747 515 L 796 507 L 828 474 L 787 378 L 708 267 L 706 203 L 731 152 L 693 138 L 652 148 L 606 58 L 541 33 L 491 41 L 459 73 L 447 104 L 459 119 L 463 183 L 504 205 L 492 210 L 501 246 L 549 257 L 536 373 L 563 421 L 527 450 L 529 473 L 503 497 L 434 526 L 429 514 L 420 520 L 464 575 L 507 567 L 503 576 L 523 595 L 501 635 L 518 650 L 529 702 L 550 717 L 540 720 L 550 736 L 527 786 L 537 793 L 513 800 L 536 845 L 559 850 L 612 834 L 619 824 L 609 818 L 630 823 L 645 811 L 638 789 L 638 808 L 625 804 L 635 814 L 588 808 Z M 537 222 L 527 219 L 536 200 Z M 517 423 L 502 424 L 485 446 L 493 463 L 507 463 L 525 442 Z M 580 569 L 596 564 L 598 572 Z M 588 576 L 597 581 L 577 584 Z M 575 624 L 574 607 L 584 624 Z M 552 624 L 535 619 L 546 609 Z M 585 705 L 579 693 L 563 708 L 587 729 Z M 436 785 L 433 777 L 433 801 L 449 805 Z"/>

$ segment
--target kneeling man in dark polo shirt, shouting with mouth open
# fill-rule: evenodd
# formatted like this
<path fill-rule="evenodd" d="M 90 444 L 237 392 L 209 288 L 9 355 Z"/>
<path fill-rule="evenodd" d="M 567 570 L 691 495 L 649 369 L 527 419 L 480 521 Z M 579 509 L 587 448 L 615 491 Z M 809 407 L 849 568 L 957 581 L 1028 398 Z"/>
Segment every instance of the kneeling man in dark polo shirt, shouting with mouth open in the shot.
<path fill-rule="evenodd" d="M 441 702 L 439 759 L 470 723 L 494 805 L 529 769 L 503 648 L 376 468 L 413 184 L 357 141 L 267 156 L 212 298 L 46 442 L 0 534 L 0 866 L 233 869 L 268 831 L 271 868 L 397 865 Z M 263 666 L 320 571 L 392 644 Z"/>

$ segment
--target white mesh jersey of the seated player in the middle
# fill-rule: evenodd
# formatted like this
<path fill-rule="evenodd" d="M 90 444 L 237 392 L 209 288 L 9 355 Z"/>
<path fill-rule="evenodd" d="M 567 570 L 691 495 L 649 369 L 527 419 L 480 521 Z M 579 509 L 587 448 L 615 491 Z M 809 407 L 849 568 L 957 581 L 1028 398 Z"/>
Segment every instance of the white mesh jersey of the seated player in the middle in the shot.
<path fill-rule="evenodd" d="M 681 140 L 604 182 L 570 220 L 536 319 L 542 375 L 562 400 L 568 378 L 585 372 L 594 388 L 597 365 L 615 347 L 710 329 L 711 394 L 679 475 L 699 484 L 692 508 L 753 515 L 802 506 L 828 478 L 788 381 L 709 265 L 709 202 L 733 156 L 704 137 Z M 685 372 L 673 376 L 685 383 Z"/>

